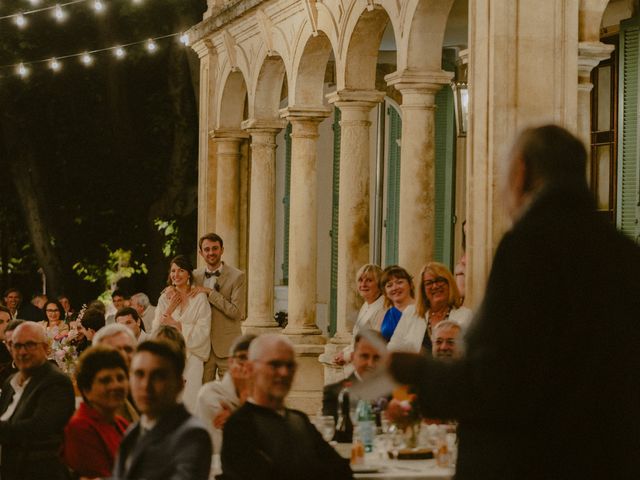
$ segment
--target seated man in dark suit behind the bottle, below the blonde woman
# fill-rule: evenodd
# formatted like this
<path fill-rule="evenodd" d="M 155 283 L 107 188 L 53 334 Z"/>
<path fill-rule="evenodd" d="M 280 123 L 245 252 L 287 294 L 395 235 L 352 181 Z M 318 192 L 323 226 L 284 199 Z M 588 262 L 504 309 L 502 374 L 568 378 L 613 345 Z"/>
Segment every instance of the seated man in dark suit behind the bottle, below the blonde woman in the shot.
<path fill-rule="evenodd" d="M 384 337 L 380 332 L 375 330 L 368 330 L 367 335 L 374 335 L 384 342 Z M 362 332 L 364 333 L 364 332 Z M 353 354 L 351 356 L 351 364 L 353 365 L 353 373 L 344 380 L 341 380 L 330 385 L 326 385 L 322 391 L 322 414 L 332 415 L 334 419 L 338 419 L 338 396 L 340 391 L 353 385 L 354 383 L 361 382 L 362 378 L 367 373 L 373 371 L 378 365 L 380 360 L 380 352 L 375 346 L 371 344 L 363 335 L 359 333 L 356 335 L 353 345 Z M 357 399 L 351 399 L 352 405 L 355 407 Z"/>

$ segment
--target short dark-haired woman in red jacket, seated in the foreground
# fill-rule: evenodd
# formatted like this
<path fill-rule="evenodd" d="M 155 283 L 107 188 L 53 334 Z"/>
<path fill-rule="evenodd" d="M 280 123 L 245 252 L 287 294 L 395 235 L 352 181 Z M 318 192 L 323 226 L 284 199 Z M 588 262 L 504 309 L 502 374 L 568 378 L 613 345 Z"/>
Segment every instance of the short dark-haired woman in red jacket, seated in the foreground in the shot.
<path fill-rule="evenodd" d="M 78 361 L 76 382 L 83 402 L 64 430 L 64 462 L 80 477 L 110 477 L 127 429 L 116 414 L 127 398 L 127 365 L 120 352 L 97 345 Z"/>

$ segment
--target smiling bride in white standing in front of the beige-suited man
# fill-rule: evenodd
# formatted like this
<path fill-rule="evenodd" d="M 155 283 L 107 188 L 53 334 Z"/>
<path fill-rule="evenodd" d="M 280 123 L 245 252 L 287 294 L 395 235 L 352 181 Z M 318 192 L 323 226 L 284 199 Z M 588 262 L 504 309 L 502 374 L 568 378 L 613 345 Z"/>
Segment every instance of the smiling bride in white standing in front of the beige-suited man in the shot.
<path fill-rule="evenodd" d="M 193 267 L 184 255 L 171 260 L 169 287 L 158 300 L 153 332 L 160 325 L 179 330 L 187 346 L 184 370 L 185 388 L 183 401 L 190 412 L 195 411 L 196 398 L 202 386 L 204 362 L 209 358 L 211 340 L 211 307 L 204 293 L 190 296 L 193 285 Z"/>

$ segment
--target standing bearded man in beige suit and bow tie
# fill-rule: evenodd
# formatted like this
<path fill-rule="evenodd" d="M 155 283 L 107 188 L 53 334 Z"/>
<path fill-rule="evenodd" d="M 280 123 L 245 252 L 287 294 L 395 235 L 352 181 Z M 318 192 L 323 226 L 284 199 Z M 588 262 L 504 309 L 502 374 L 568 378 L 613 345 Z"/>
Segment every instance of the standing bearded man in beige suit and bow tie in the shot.
<path fill-rule="evenodd" d="M 204 364 L 202 382 L 222 379 L 227 371 L 229 349 L 242 335 L 240 324 L 245 316 L 246 284 L 244 272 L 222 261 L 224 243 L 215 233 L 204 235 L 199 253 L 206 266 L 193 271 L 196 288 L 192 295 L 204 292 L 211 304 L 211 353 Z"/>

